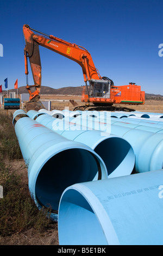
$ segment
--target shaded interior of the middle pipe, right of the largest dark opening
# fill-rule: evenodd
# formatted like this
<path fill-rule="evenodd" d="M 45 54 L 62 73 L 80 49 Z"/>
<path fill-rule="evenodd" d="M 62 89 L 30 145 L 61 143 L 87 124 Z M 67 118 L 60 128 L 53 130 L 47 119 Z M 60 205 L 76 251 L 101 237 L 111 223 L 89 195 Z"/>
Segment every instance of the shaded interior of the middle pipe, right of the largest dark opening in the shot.
<path fill-rule="evenodd" d="M 130 149 L 131 146 L 127 141 L 122 138 L 112 137 L 99 143 L 94 150 L 99 156 L 101 156 L 108 170 L 108 175 L 110 175 L 115 169 L 120 167 L 122 161 L 126 168 L 130 167 Z"/>

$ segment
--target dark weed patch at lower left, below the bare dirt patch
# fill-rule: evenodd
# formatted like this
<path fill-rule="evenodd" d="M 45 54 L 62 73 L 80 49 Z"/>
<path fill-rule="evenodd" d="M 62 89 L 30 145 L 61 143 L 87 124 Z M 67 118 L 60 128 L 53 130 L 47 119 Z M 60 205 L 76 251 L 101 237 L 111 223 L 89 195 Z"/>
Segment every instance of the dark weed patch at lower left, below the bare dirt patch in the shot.
<path fill-rule="evenodd" d="M 37 231 L 47 228 L 51 221 L 43 209 L 39 211 L 36 208 L 27 186 L 22 185 L 21 176 L 10 173 L 9 168 L 4 167 L 1 160 L 3 198 L 0 199 L 0 235 L 8 236 L 29 228 Z"/>

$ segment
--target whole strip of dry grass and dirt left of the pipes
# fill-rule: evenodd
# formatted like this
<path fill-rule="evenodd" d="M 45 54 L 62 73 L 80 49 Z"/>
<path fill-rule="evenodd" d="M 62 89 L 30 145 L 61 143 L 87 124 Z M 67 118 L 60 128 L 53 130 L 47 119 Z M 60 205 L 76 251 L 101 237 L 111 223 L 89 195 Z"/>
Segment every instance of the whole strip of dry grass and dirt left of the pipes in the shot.
<path fill-rule="evenodd" d="M 0 245 L 58 245 L 57 223 L 30 197 L 28 172 L 12 126 L 12 113 L 0 112 Z"/>

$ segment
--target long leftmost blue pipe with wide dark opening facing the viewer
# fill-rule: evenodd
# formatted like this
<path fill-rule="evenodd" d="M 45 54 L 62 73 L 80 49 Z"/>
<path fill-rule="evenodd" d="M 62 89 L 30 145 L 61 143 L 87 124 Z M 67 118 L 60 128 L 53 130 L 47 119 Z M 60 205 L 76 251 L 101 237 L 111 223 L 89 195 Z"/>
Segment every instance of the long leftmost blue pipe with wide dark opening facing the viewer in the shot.
<path fill-rule="evenodd" d="M 61 193 L 67 186 L 108 178 L 105 164 L 95 151 L 60 136 L 32 118 L 17 120 L 15 133 L 28 167 L 30 194 L 39 209 L 45 206 L 52 210 L 54 219 Z"/>

